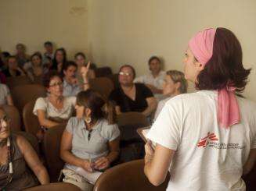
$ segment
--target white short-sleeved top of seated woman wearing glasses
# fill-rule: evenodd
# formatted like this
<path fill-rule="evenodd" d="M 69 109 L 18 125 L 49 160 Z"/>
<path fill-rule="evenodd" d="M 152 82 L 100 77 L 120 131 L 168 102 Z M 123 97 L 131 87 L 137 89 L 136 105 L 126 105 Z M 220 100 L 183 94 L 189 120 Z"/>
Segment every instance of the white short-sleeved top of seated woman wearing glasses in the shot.
<path fill-rule="evenodd" d="M 45 111 L 46 118 L 70 118 L 74 111 L 77 97 L 64 97 L 63 108 L 55 108 L 48 97 L 39 97 L 34 104 L 33 113 L 38 115 L 38 109 Z"/>

